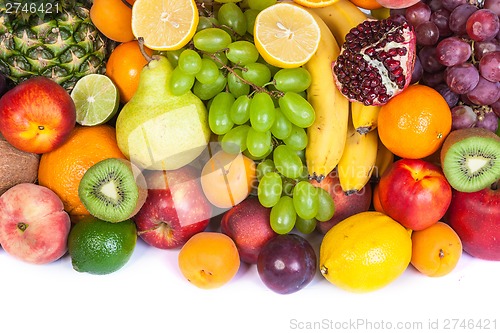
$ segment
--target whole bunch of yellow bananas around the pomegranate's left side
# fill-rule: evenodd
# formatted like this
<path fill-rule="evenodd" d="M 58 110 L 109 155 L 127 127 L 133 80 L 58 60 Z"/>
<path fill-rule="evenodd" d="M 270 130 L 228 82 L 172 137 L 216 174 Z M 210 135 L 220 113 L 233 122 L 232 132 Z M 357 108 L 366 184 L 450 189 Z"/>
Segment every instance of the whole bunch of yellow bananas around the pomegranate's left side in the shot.
<path fill-rule="evenodd" d="M 352 194 L 394 161 L 376 131 L 380 106 L 349 102 L 336 88 L 332 74 L 332 63 L 346 34 L 367 15 L 349 0 L 309 11 L 321 28 L 322 38 L 318 51 L 305 65 L 312 77 L 307 95 L 316 112 L 307 133 L 307 168 L 310 177 L 318 181 L 337 168 L 342 190 Z"/>

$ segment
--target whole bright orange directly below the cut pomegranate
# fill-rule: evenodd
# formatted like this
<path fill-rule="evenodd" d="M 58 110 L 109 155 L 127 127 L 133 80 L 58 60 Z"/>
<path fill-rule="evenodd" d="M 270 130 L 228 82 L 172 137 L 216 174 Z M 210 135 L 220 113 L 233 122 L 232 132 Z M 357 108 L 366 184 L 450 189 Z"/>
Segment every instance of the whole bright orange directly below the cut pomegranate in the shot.
<path fill-rule="evenodd" d="M 402 158 L 424 158 L 437 151 L 451 130 L 451 112 L 436 90 L 415 84 L 380 108 L 378 134 Z"/>

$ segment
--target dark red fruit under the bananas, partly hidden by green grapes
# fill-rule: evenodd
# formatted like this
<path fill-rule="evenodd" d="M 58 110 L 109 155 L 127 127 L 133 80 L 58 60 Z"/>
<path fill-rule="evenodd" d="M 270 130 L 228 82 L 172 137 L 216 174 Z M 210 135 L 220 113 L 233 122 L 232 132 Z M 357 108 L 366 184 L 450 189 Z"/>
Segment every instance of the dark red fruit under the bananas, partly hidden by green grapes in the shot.
<path fill-rule="evenodd" d="M 365 212 L 370 208 L 372 200 L 372 187 L 368 183 L 359 192 L 350 195 L 345 194 L 340 186 L 337 170 L 330 172 L 321 182 L 310 180 L 314 186 L 321 187 L 330 193 L 335 203 L 333 217 L 325 222 L 317 223 L 317 230 L 326 234 L 334 225 L 351 215 Z"/>

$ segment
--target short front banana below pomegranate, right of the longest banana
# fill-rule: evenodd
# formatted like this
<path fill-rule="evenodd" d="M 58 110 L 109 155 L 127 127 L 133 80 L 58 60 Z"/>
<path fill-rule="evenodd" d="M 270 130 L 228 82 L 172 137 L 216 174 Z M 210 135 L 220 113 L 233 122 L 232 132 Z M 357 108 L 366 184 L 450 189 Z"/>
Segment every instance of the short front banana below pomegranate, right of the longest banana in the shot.
<path fill-rule="evenodd" d="M 371 178 L 377 159 L 378 132 L 360 134 L 349 121 L 344 153 L 337 165 L 340 186 L 347 195 L 361 190 Z"/>

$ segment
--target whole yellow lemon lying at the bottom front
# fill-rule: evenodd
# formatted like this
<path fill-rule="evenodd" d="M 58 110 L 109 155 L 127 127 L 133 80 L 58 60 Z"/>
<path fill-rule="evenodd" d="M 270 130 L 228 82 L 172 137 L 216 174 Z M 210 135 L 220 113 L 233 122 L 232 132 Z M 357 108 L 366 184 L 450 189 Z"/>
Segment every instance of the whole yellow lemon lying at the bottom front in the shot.
<path fill-rule="evenodd" d="M 367 211 L 339 222 L 324 236 L 321 274 L 351 292 L 369 292 L 398 278 L 411 260 L 410 233 L 389 216 Z"/>

